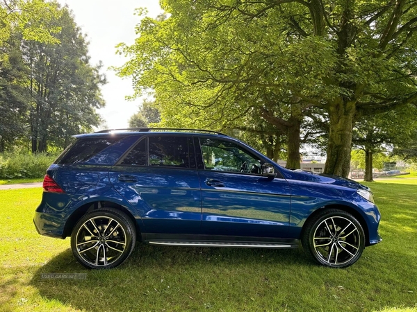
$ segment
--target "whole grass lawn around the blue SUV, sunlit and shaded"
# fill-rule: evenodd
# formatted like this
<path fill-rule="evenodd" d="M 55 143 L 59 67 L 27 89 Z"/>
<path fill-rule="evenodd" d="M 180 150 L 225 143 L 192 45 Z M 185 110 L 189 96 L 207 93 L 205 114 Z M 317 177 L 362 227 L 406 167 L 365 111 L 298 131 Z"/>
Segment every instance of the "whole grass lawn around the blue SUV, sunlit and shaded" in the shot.
<path fill-rule="evenodd" d="M 401 184 L 400 182 L 401 181 Z M 41 189 L 0 191 L 1 311 L 417 311 L 417 180 L 368 183 L 384 241 L 347 269 L 298 250 L 137 245 L 114 270 L 86 270 L 70 241 L 36 233 Z M 86 273 L 86 279 L 41 279 Z"/>

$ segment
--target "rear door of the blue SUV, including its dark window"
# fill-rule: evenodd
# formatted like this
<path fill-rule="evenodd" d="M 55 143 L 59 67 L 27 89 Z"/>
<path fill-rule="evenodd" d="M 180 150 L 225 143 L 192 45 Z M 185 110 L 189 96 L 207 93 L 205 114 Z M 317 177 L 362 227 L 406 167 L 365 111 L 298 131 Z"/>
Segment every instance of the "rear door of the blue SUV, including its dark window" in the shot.
<path fill-rule="evenodd" d="M 138 209 L 143 233 L 199 234 L 201 193 L 193 141 L 187 136 L 142 138 L 113 166 L 110 178 Z"/>

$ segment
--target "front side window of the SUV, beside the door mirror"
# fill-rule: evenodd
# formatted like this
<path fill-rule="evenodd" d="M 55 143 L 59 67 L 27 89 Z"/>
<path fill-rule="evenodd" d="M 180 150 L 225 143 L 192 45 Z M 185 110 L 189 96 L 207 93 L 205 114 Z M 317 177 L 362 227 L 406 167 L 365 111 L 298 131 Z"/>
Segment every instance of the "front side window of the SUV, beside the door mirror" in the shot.
<path fill-rule="evenodd" d="M 206 170 L 261 174 L 261 160 L 242 147 L 220 139 L 200 139 Z"/>

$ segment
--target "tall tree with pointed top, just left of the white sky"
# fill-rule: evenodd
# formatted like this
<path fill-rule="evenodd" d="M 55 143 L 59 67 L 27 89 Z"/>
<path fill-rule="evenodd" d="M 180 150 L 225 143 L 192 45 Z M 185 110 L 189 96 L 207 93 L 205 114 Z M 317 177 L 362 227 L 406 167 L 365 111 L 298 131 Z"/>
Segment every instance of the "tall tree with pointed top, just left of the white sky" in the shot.
<path fill-rule="evenodd" d="M 26 87 L 33 98 L 30 108 L 31 150 L 43 152 L 48 142 L 67 146 L 72 135 L 91 130 L 100 122 L 99 87 L 106 83 L 101 64 L 90 65 L 88 44 L 69 10 L 51 21 L 59 27 L 58 44 L 24 40 L 22 53 L 28 67 Z"/>

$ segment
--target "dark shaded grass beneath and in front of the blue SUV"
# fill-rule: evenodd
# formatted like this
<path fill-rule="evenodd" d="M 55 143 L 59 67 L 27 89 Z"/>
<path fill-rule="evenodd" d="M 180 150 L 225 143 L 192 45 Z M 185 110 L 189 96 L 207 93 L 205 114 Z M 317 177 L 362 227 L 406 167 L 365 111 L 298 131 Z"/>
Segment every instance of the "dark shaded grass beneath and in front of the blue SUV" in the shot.
<path fill-rule="evenodd" d="M 207 306 L 215 306 L 215 311 L 242 311 L 242 306 L 246 311 L 267 311 L 279 310 L 281 304 L 293 311 L 342 311 L 345 304 L 379 311 L 384 306 L 414 305 L 413 254 L 378 245 L 366 248 L 354 266 L 338 270 L 318 266 L 301 248 L 138 244 L 121 266 L 88 270 L 68 249 L 39 268 L 31 285 L 46 302 L 83 311 L 206 311 Z M 46 273 L 58 278 L 42 279 Z M 83 273 L 85 279 L 60 276 L 71 273 Z M 322 299 L 315 301 L 318 296 Z"/>

